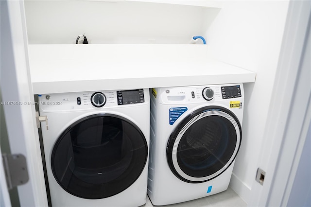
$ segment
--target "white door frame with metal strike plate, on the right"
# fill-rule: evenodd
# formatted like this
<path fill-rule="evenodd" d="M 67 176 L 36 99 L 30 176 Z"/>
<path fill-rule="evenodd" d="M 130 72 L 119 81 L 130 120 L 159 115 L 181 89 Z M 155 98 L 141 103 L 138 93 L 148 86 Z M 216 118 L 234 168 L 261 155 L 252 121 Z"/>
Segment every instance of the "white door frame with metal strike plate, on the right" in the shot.
<path fill-rule="evenodd" d="M 249 206 L 287 206 L 311 121 L 311 3 L 291 1 Z M 255 173 L 255 172 L 254 172 Z M 255 180 L 255 179 L 254 179 Z"/>

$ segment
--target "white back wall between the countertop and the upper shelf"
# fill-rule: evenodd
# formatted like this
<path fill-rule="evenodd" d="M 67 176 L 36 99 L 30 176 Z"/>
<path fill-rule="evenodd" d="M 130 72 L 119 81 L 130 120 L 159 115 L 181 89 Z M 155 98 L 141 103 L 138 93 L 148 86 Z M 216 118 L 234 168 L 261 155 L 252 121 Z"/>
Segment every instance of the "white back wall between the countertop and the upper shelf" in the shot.
<path fill-rule="evenodd" d="M 203 8 L 134 1 L 26 0 L 30 44 L 189 43 L 202 35 Z M 219 9 L 216 9 L 219 10 Z"/>

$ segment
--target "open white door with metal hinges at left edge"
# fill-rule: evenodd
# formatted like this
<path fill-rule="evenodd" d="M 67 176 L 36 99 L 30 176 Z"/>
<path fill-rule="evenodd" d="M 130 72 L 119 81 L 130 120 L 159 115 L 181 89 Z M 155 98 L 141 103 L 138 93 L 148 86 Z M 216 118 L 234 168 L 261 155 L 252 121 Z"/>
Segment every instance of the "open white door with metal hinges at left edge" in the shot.
<path fill-rule="evenodd" d="M 48 206 L 48 202 L 35 124 L 24 2 L 1 0 L 0 9 L 1 104 L 4 109 L 10 151 L 12 154 L 22 154 L 26 157 L 29 175 L 29 181 L 17 187 L 19 202 L 21 206 L 44 207 Z M 1 176 L 1 185 L 4 183 L 2 179 Z M 1 186 L 1 195 L 2 193 L 7 195 L 6 189 Z M 4 205 L 11 204 L 6 202 Z"/>

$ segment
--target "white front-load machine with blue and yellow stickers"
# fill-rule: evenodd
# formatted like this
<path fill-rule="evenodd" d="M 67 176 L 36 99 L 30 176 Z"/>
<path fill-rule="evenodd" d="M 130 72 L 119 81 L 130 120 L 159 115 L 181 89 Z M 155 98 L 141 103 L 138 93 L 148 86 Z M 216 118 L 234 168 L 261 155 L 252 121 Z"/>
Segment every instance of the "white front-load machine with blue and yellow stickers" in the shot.
<path fill-rule="evenodd" d="M 228 188 L 242 138 L 243 85 L 151 89 L 148 196 L 185 202 Z"/>

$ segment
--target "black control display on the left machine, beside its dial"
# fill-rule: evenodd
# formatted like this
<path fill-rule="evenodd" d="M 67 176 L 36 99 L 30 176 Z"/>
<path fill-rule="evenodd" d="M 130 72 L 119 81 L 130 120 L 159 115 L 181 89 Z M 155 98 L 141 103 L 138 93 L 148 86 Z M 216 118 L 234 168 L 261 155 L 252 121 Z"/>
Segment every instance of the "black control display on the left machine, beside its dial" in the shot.
<path fill-rule="evenodd" d="M 143 89 L 117 91 L 118 105 L 143 103 Z"/>

